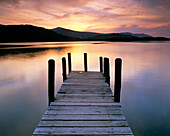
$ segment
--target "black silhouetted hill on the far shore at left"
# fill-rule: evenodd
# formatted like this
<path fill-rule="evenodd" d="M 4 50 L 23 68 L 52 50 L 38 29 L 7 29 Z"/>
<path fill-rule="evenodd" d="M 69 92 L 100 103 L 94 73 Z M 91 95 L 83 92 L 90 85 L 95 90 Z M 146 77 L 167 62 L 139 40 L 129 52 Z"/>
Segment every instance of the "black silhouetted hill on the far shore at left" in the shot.
<path fill-rule="evenodd" d="M 50 42 L 77 40 L 32 25 L 0 25 L 0 42 Z"/>

